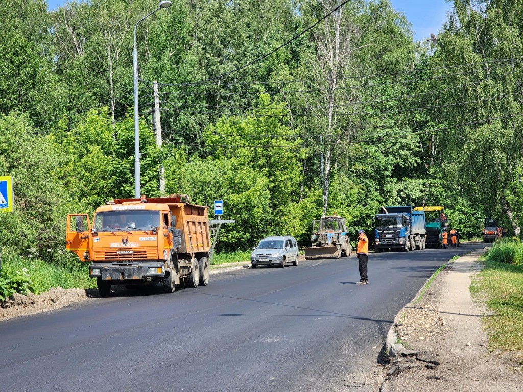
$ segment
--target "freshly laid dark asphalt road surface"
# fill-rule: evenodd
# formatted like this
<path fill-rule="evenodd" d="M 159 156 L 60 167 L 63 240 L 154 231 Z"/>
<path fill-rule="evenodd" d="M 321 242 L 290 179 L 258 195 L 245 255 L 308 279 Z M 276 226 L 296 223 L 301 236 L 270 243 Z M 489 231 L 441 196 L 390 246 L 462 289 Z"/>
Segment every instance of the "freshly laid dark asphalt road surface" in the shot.
<path fill-rule="evenodd" d="M 455 249 L 211 275 L 0 322 L 0 391 L 328 391 L 379 361 L 397 312 Z"/>

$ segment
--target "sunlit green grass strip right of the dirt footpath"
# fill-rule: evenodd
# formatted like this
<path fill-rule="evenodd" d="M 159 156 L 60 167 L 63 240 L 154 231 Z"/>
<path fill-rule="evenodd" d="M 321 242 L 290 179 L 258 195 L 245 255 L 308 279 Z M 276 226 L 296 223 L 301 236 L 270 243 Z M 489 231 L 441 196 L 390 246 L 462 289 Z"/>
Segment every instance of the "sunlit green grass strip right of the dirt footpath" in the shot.
<path fill-rule="evenodd" d="M 518 255 L 523 244 L 507 247 L 499 243 L 500 249 L 495 250 L 497 245 L 486 253 L 485 268 L 473 279 L 470 290 L 474 298 L 484 299 L 493 313 L 483 318 L 490 336 L 489 349 L 515 352 L 523 364 L 523 265 L 499 262 L 506 260 L 507 254 Z"/>

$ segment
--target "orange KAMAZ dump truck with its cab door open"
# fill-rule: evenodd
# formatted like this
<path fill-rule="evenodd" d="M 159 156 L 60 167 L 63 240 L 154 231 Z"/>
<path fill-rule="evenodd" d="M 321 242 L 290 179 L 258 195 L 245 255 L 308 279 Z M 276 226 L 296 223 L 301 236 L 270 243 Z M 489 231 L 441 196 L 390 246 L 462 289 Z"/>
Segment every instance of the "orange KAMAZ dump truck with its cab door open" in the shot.
<path fill-rule="evenodd" d="M 67 216 L 66 248 L 89 261 L 100 296 L 112 285 L 155 285 L 165 292 L 175 284 L 209 283 L 211 241 L 206 206 L 181 195 L 116 199 L 87 214 Z"/>

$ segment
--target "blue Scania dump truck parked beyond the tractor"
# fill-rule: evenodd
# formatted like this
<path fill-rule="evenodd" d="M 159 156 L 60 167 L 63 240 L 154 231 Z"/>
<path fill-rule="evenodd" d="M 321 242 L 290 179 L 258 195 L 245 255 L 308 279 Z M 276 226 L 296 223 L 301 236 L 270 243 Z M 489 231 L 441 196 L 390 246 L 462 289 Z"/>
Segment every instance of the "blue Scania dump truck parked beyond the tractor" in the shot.
<path fill-rule="evenodd" d="M 410 205 L 381 208 L 385 213 L 374 217 L 374 241 L 378 252 L 425 249 L 425 211 L 414 211 Z"/>

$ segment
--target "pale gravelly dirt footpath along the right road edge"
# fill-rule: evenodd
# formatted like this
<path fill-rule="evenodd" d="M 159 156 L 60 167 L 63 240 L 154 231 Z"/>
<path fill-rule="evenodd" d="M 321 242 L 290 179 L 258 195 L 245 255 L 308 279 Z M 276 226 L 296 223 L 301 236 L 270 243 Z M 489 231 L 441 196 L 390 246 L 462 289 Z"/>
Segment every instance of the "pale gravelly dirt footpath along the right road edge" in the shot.
<path fill-rule="evenodd" d="M 382 392 L 521 390 L 521 369 L 504 355 L 488 353 L 482 328 L 483 303 L 470 293 L 471 277 L 483 267 L 484 250 L 462 256 L 443 269 L 425 291 L 397 314 L 390 337 L 399 358 L 385 368 Z M 419 354 L 417 354 L 419 352 Z"/>

